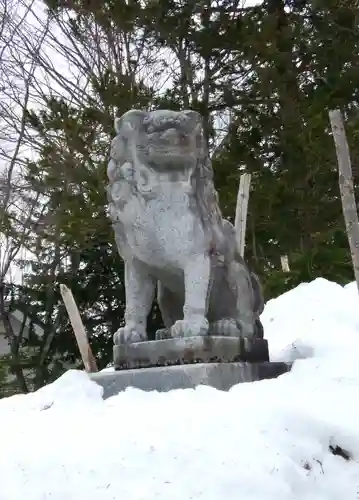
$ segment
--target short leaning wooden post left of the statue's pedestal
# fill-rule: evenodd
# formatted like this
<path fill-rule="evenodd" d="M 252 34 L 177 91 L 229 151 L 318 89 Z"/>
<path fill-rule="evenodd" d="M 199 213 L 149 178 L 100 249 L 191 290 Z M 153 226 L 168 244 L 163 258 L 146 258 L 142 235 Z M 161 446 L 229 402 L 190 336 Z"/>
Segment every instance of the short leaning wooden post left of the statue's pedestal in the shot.
<path fill-rule="evenodd" d="M 63 284 L 60 285 L 60 292 L 75 333 L 77 345 L 79 346 L 82 361 L 85 365 L 85 370 L 88 373 L 97 372 L 96 361 L 94 355 L 92 354 L 85 327 L 82 323 L 72 292 L 66 285 Z"/>

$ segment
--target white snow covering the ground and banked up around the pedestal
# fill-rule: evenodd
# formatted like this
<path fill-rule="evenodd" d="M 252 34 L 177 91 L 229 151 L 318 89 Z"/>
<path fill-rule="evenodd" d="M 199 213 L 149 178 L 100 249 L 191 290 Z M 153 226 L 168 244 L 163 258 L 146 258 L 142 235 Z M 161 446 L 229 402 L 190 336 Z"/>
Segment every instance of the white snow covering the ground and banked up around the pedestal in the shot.
<path fill-rule="evenodd" d="M 297 361 L 228 393 L 103 401 L 69 371 L 1 400 L 0 500 L 357 500 L 358 306 L 354 284 L 323 279 L 268 302 L 272 359 Z"/>

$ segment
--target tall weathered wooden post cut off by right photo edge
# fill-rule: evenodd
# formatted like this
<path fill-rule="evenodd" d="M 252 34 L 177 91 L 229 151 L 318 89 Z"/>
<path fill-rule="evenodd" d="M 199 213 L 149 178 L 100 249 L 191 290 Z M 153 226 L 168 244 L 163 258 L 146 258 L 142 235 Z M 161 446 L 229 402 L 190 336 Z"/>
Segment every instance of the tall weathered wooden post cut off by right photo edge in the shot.
<path fill-rule="evenodd" d="M 343 215 L 359 293 L 359 221 L 354 196 L 349 146 L 340 110 L 335 109 L 329 111 L 329 120 L 337 153 L 339 188 L 342 199 Z"/>

